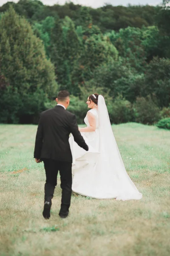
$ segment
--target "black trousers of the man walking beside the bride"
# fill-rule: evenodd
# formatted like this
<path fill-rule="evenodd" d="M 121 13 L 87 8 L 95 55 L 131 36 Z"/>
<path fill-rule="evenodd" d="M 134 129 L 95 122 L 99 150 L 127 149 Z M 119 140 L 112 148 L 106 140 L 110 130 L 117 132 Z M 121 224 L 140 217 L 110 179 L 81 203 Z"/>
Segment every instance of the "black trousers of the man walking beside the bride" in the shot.
<path fill-rule="evenodd" d="M 71 203 L 71 186 L 72 186 L 72 173 L 71 163 L 59 162 L 53 159 L 43 159 L 46 183 L 45 183 L 45 201 L 51 202 L 54 195 L 54 189 L 57 186 L 58 171 L 61 180 L 62 199 L 61 210 L 68 211 Z"/>

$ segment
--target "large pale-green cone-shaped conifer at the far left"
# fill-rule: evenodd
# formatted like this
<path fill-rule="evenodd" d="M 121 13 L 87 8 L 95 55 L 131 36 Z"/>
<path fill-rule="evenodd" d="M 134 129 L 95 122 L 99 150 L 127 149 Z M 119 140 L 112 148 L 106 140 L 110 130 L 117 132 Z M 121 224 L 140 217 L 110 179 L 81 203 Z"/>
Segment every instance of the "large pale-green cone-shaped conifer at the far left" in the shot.
<path fill-rule="evenodd" d="M 0 76 L 8 84 L 8 87 L 0 89 L 1 96 L 4 95 L 6 99 L 3 104 L 8 105 L 8 93 L 17 93 L 17 100 L 22 101 L 21 109 L 16 113 L 18 116 L 21 113 L 24 115 L 22 110 L 28 96 L 31 100 L 37 98 L 40 109 L 43 108 L 45 95 L 56 96 L 54 66 L 45 56 L 42 41 L 34 35 L 28 21 L 17 15 L 12 7 L 0 19 L 0 72 Z M 31 111 L 25 109 L 33 115 L 31 105 L 29 108 Z"/>

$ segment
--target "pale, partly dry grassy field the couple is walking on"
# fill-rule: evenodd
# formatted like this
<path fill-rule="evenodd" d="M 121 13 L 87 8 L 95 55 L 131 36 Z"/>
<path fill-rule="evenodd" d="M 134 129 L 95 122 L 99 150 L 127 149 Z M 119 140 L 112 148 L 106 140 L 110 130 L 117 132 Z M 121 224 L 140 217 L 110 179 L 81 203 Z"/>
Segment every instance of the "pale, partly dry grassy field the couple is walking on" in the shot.
<path fill-rule="evenodd" d="M 169 256 L 170 131 L 114 125 L 125 167 L 141 201 L 72 195 L 70 215 L 42 217 L 45 172 L 33 159 L 35 125 L 0 125 L 1 256 Z"/>

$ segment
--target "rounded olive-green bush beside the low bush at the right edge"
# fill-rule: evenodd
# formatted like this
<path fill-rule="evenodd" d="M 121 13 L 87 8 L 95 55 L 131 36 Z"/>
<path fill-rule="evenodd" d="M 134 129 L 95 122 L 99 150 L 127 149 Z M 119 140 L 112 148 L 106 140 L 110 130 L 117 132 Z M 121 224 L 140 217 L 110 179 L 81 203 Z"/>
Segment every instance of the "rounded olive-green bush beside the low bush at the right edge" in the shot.
<path fill-rule="evenodd" d="M 151 96 L 147 98 L 138 97 L 134 103 L 135 120 L 136 122 L 152 125 L 160 119 L 160 111 Z"/>

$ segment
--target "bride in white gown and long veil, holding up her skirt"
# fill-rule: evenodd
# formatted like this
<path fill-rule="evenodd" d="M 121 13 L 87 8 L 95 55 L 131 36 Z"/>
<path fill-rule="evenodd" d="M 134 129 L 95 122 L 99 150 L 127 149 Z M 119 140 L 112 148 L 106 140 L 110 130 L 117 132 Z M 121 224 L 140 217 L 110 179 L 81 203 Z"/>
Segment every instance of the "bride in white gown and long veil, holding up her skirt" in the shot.
<path fill-rule="evenodd" d="M 69 142 L 73 156 L 72 190 L 91 198 L 116 200 L 141 199 L 135 184 L 128 176 L 111 128 L 105 99 L 102 95 L 88 97 L 88 111 L 79 128 L 88 152 L 80 148 L 71 135 Z"/>

